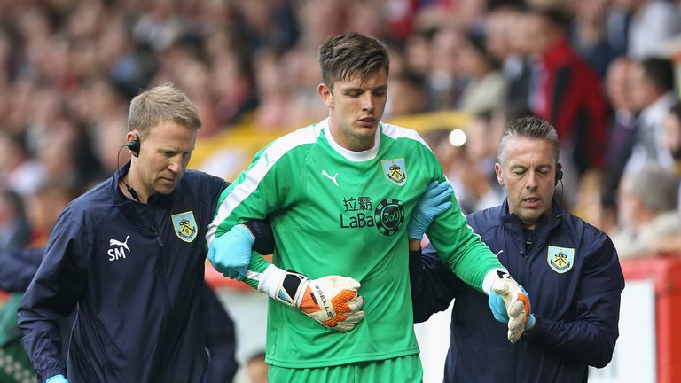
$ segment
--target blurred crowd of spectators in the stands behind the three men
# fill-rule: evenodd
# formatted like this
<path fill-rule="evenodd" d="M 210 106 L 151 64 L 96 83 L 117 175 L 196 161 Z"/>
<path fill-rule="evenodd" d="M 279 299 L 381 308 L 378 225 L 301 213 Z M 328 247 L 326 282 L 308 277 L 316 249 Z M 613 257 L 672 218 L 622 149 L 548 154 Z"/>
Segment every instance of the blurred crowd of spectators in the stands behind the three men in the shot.
<path fill-rule="evenodd" d="M 200 138 L 325 117 L 317 46 L 346 30 L 391 51 L 386 117 L 460 111 L 426 138 L 466 212 L 503 199 L 505 121 L 561 139 L 562 203 L 622 256 L 681 250 L 681 2 L 6 0 L 0 2 L 0 250 L 40 245 L 67 202 L 129 159 L 129 99 L 175 82 Z M 635 244 L 635 245 L 634 245 Z"/>

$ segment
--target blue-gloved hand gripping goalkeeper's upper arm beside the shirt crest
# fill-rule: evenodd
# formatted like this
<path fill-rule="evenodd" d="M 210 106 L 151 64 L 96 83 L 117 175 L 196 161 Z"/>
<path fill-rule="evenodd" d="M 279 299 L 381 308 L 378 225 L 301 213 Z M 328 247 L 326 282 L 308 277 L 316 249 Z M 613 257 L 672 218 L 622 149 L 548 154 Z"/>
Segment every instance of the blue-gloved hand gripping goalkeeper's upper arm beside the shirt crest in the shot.
<path fill-rule="evenodd" d="M 433 181 L 419 198 L 416 203 L 409 223 L 407 224 L 407 235 L 409 238 L 421 239 L 430 223 L 437 215 L 451 207 L 451 195 L 454 191 L 447 181 Z"/>

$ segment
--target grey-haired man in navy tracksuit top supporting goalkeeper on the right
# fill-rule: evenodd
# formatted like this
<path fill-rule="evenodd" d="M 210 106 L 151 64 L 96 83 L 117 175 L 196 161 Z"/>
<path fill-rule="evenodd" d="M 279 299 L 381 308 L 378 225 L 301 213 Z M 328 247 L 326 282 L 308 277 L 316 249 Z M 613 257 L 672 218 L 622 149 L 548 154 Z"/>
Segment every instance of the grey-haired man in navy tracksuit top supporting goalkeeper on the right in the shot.
<path fill-rule="evenodd" d="M 558 136 L 536 118 L 512 121 L 495 165 L 507 199 L 468 215 L 468 223 L 528 292 L 532 316 L 515 344 L 508 320 L 461 282 L 427 247 L 410 257 L 414 321 L 447 309 L 451 317 L 446 382 L 586 382 L 588 366 L 610 362 L 619 335 L 622 269 L 605 233 L 567 213 L 553 192 L 562 177 Z M 497 315 L 498 313 L 498 315 Z M 495 320 L 497 317 L 497 320 Z"/>

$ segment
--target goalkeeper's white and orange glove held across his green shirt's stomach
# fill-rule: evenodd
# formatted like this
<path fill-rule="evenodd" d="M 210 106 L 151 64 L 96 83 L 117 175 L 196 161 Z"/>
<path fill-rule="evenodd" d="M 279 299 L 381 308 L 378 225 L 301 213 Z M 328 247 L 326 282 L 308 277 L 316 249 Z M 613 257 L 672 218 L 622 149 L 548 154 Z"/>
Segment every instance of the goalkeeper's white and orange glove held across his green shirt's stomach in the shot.
<path fill-rule="evenodd" d="M 327 276 L 317 279 L 270 265 L 262 273 L 258 290 L 327 328 L 348 332 L 364 319 L 364 300 L 357 293 L 360 284 L 351 277 Z"/>

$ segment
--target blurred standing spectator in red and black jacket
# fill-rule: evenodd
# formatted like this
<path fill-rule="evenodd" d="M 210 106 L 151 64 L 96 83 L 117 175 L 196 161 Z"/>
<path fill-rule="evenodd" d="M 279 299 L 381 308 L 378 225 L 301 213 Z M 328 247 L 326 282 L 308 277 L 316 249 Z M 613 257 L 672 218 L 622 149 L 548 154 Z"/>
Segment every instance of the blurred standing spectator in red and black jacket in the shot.
<path fill-rule="evenodd" d="M 528 105 L 555 126 L 561 160 L 578 179 L 604 165 L 607 105 L 599 77 L 570 47 L 562 13 L 534 9 L 525 22 L 533 60 Z"/>

